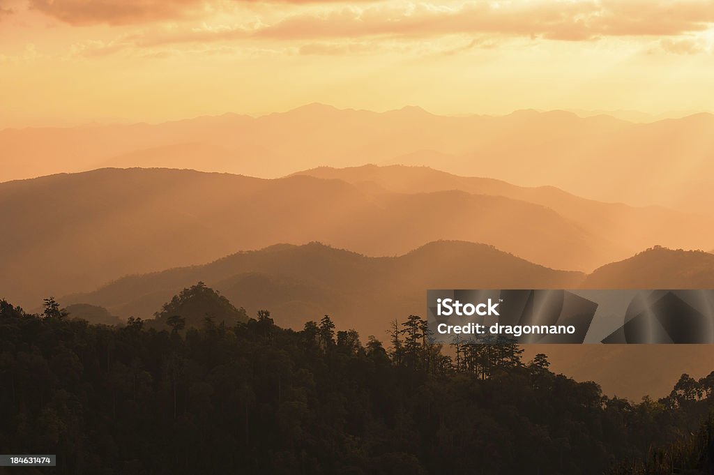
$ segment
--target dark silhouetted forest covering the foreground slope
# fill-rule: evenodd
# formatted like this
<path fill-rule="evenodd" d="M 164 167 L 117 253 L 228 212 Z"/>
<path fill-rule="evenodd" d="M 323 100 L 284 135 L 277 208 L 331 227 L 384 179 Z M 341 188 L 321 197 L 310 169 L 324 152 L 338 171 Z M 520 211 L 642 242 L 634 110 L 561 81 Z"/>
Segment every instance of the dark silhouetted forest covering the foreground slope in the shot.
<path fill-rule="evenodd" d="M 58 465 L 0 474 L 714 473 L 714 371 L 635 404 L 403 320 L 282 329 L 201 283 L 121 326 L 2 300 L 0 454 Z"/>

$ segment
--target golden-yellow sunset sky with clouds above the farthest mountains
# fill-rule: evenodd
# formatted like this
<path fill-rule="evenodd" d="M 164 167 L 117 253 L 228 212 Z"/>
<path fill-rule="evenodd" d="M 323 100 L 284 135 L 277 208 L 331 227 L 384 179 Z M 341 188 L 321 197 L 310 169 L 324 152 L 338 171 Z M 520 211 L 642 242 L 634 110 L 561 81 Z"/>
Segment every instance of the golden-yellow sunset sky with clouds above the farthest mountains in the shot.
<path fill-rule="evenodd" d="M 714 110 L 714 1 L 0 0 L 0 127 Z"/>

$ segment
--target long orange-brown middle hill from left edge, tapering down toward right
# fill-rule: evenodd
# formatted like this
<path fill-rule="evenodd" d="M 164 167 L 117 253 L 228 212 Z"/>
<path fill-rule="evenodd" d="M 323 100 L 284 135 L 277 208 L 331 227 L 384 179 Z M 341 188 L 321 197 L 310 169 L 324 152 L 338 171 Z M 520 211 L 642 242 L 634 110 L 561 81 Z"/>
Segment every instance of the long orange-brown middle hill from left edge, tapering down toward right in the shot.
<path fill-rule="evenodd" d="M 393 256 L 457 239 L 560 269 L 591 269 L 625 252 L 526 201 L 458 190 L 369 193 L 311 176 L 100 169 L 9 181 L 0 184 L 0 220 L 9 224 L 0 234 L 0 289 L 24 306 L 282 242 Z"/>

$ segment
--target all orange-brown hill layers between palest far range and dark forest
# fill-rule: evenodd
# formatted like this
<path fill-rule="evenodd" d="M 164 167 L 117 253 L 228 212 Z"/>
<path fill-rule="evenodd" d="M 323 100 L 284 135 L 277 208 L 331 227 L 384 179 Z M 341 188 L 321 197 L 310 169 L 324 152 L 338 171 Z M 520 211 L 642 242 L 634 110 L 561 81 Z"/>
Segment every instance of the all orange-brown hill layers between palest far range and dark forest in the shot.
<path fill-rule="evenodd" d="M 220 156 L 204 146 L 171 153 Z M 127 153 L 161 164 L 160 154 Z M 0 221 L 0 298 L 35 309 L 54 294 L 75 317 L 104 323 L 151 318 L 198 281 L 283 326 L 330 314 L 381 339 L 389 321 L 423 314 L 428 288 L 714 288 L 714 256 L 690 250 L 711 248 L 707 216 L 424 166 L 276 179 L 56 174 L 0 183 Z M 703 376 L 713 356 L 708 346 L 526 348 L 535 351 L 556 371 L 634 399 L 663 394 L 683 370 Z"/>

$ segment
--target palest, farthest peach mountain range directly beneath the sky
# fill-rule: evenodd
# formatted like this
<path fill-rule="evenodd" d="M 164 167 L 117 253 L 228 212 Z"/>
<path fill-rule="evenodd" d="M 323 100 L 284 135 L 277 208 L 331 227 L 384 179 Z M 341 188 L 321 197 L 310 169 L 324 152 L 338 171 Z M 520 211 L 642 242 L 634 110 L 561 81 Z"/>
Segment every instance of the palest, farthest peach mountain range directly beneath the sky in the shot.
<path fill-rule="evenodd" d="M 276 178 L 316 166 L 426 165 L 599 201 L 713 214 L 714 116 L 633 123 L 567 111 L 438 116 L 310 104 L 265 116 L 0 131 L 0 180 L 106 166 Z M 673 164 L 677 164 L 673 167 Z"/>

